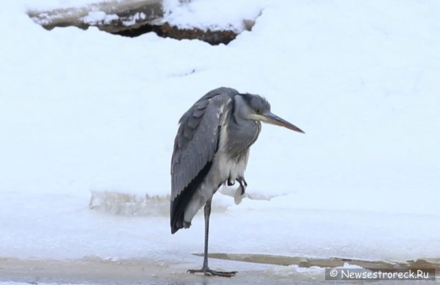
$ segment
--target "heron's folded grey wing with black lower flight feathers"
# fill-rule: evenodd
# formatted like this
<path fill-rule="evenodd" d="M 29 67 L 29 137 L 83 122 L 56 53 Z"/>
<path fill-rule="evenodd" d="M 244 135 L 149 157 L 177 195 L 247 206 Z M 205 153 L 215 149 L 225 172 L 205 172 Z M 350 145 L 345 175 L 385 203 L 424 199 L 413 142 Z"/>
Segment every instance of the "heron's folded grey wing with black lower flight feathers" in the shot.
<path fill-rule="evenodd" d="M 227 91 L 234 89 L 227 89 Z M 235 94 L 238 94 L 236 92 Z M 183 225 L 183 213 L 195 189 L 212 165 L 219 142 L 221 118 L 231 102 L 230 92 L 212 90 L 180 119 L 171 160 L 171 228 Z"/>

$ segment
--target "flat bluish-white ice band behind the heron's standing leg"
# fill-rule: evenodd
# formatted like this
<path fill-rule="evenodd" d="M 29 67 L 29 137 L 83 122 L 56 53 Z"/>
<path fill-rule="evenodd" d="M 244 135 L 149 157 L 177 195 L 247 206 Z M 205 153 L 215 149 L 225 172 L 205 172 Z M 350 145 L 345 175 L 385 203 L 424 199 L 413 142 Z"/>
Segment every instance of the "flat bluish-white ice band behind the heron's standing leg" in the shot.
<path fill-rule="evenodd" d="M 91 211 L 82 197 L 65 194 L 1 193 L 0 198 L 5 257 L 179 260 L 203 249 L 203 215 L 197 215 L 190 230 L 170 235 L 168 213 L 162 211 Z M 439 257 L 437 215 L 300 210 L 252 202 L 260 203 L 259 209 L 214 207 L 212 252 L 399 262 Z"/>

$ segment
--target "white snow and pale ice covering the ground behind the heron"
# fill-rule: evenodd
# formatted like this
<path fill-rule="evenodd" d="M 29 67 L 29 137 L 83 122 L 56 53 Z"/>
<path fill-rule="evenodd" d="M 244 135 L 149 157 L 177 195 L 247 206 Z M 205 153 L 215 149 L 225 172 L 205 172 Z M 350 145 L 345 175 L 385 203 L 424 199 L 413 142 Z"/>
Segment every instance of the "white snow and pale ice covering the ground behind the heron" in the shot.
<path fill-rule="evenodd" d="M 306 134 L 263 127 L 246 172 L 253 199 L 217 194 L 212 252 L 440 258 L 439 1 L 167 1 L 186 28 L 239 29 L 261 12 L 218 46 L 49 32 L 25 14 L 84 2 L 2 4 L 0 258 L 197 266 L 201 217 L 170 235 L 166 210 L 115 215 L 89 199 L 164 201 L 177 120 L 219 86 L 264 95 Z"/>

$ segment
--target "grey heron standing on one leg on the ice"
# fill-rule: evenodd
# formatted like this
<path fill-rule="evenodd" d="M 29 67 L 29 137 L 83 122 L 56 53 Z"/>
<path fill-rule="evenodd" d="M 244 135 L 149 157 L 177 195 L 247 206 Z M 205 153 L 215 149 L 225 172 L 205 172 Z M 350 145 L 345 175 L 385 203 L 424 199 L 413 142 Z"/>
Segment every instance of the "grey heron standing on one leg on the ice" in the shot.
<path fill-rule="evenodd" d="M 220 87 L 201 97 L 179 120 L 171 159 L 171 233 L 189 228 L 204 206 L 205 247 L 201 269 L 189 273 L 231 277 L 236 271 L 213 271 L 208 267 L 208 233 L 211 201 L 222 184 L 239 182 L 241 195 L 248 185 L 244 172 L 250 146 L 258 138 L 261 122 L 301 129 L 270 112 L 259 95 L 241 94 Z M 239 190 L 237 190 L 239 191 Z"/>

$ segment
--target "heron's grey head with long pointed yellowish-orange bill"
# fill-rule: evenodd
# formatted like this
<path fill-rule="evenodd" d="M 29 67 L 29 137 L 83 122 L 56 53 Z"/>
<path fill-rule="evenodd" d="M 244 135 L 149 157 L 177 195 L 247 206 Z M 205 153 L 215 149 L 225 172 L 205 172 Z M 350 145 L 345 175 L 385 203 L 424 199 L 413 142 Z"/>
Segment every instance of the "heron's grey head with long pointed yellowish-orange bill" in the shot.
<path fill-rule="evenodd" d="M 255 94 L 240 94 L 240 97 L 241 99 L 238 101 L 240 108 L 239 112 L 244 118 L 247 118 L 248 120 L 258 120 L 263 123 L 278 125 L 281 127 L 287 127 L 287 129 L 299 131 L 300 133 L 304 134 L 304 131 L 300 128 L 270 112 L 270 104 L 262 96 Z"/>

